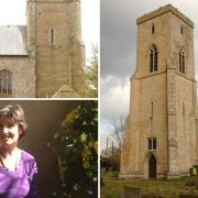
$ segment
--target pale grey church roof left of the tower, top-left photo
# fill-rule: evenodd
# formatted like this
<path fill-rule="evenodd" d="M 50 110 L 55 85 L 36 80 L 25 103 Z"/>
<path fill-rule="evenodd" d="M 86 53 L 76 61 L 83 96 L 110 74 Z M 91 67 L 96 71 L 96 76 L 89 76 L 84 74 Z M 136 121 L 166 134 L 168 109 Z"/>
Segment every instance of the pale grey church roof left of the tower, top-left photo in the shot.
<path fill-rule="evenodd" d="M 28 55 L 26 42 L 25 25 L 0 26 L 0 56 Z"/>

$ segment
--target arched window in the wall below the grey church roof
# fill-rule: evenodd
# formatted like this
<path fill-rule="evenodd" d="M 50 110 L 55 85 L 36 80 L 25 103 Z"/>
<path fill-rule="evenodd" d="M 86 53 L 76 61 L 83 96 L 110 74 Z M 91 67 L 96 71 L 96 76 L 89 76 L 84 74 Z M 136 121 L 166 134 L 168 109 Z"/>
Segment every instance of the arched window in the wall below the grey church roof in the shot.
<path fill-rule="evenodd" d="M 12 94 L 12 73 L 10 70 L 0 70 L 0 94 Z"/>

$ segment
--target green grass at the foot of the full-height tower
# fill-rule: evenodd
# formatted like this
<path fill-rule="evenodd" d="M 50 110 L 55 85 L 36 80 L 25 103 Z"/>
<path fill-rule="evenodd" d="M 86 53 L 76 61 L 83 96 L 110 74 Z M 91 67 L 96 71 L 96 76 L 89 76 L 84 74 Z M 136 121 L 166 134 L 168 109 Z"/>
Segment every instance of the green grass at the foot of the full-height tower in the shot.
<path fill-rule="evenodd" d="M 110 172 L 102 174 L 102 180 L 105 187 L 101 187 L 101 198 L 121 198 L 124 186 L 139 187 L 142 195 L 163 198 L 176 198 L 179 194 L 198 194 L 198 177 L 183 177 L 174 180 L 119 179 L 118 173 Z"/>

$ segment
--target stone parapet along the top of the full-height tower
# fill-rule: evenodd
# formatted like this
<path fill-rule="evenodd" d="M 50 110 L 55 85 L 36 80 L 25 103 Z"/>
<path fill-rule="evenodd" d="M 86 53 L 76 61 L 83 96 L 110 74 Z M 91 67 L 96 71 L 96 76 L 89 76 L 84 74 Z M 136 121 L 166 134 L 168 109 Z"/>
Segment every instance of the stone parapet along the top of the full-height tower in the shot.
<path fill-rule="evenodd" d="M 189 26 L 191 26 L 194 29 L 194 22 L 191 20 L 189 20 L 187 16 L 185 16 L 182 12 L 179 12 L 175 7 L 173 7 L 172 4 L 166 4 L 165 7 L 161 7 L 157 10 L 154 10 L 147 14 L 142 15 L 141 18 L 139 18 L 136 20 L 136 24 L 140 24 L 144 21 L 151 20 L 153 18 L 156 18 L 161 14 L 164 14 L 166 12 L 172 12 L 173 14 L 175 14 L 177 18 L 179 18 L 180 20 L 183 20 L 186 24 L 188 24 Z"/>

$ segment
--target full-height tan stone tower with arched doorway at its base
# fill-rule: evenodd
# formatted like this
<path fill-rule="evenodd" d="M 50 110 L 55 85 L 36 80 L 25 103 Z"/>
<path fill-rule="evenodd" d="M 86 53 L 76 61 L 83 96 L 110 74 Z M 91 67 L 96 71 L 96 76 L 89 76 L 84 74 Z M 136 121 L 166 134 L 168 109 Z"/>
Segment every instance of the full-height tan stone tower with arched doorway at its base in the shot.
<path fill-rule="evenodd" d="M 175 178 L 197 162 L 194 23 L 167 4 L 136 20 L 120 177 Z"/>

